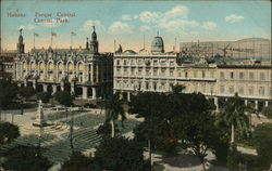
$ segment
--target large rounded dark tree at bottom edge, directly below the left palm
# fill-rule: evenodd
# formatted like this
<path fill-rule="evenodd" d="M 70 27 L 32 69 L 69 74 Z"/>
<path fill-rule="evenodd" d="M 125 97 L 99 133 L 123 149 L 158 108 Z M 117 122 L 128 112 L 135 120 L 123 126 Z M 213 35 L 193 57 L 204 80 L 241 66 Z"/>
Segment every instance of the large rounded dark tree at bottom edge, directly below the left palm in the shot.
<path fill-rule="evenodd" d="M 103 170 L 145 171 L 143 148 L 125 137 L 104 139 L 95 153 L 95 160 Z"/>

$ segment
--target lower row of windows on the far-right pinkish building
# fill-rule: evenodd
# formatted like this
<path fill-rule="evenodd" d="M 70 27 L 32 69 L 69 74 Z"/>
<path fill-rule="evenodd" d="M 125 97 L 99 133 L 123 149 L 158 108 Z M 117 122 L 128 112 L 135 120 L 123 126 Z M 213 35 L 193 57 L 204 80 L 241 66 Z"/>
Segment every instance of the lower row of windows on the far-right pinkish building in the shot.
<path fill-rule="evenodd" d="M 255 87 L 248 87 L 246 90 L 244 89 L 244 87 L 239 87 L 238 90 L 235 91 L 235 88 L 228 87 L 226 88 L 225 86 L 220 86 L 220 93 L 221 94 L 234 94 L 234 93 L 238 93 L 239 95 L 244 95 L 247 91 L 248 95 L 259 95 L 259 96 L 264 96 L 265 95 L 265 88 L 264 87 L 258 87 L 257 90 L 255 89 Z"/>

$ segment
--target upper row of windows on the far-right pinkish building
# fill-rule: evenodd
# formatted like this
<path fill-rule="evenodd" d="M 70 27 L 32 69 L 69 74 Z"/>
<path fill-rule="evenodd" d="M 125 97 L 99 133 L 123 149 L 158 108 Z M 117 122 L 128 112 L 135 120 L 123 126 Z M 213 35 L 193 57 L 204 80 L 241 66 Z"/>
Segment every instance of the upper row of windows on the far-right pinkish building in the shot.
<path fill-rule="evenodd" d="M 239 71 L 237 74 L 237 76 L 235 75 L 236 73 L 234 73 L 234 71 L 231 71 L 228 74 L 230 74 L 228 79 L 231 79 L 231 80 L 232 79 L 239 79 L 239 80 L 245 80 L 246 79 L 245 71 Z M 258 73 L 250 71 L 248 74 L 248 79 L 249 80 L 257 80 L 258 79 L 257 77 L 258 77 Z M 226 76 L 226 74 L 224 71 L 220 71 L 220 78 L 221 79 L 227 79 L 227 76 Z M 259 73 L 259 80 L 260 81 L 265 81 L 267 80 L 265 73 Z"/>

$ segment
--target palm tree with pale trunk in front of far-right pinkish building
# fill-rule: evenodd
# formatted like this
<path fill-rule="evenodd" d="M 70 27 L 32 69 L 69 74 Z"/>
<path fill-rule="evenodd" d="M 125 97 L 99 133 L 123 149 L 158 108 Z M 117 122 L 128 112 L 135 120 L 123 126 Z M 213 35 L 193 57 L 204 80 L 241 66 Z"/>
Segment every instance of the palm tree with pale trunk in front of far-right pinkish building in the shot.
<path fill-rule="evenodd" d="M 231 97 L 225 104 L 224 110 L 219 115 L 217 123 L 224 122 L 228 128 L 231 128 L 231 144 L 234 144 L 235 130 L 239 132 L 248 132 L 249 130 L 249 119 L 245 114 L 247 107 L 244 101 L 235 93 L 234 97 Z"/>

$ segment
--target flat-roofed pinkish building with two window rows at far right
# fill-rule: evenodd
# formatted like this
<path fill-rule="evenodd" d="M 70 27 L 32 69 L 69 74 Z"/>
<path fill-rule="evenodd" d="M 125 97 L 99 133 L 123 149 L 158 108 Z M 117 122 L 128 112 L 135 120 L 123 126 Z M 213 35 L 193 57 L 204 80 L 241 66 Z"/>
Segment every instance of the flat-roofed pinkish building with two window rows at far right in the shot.
<path fill-rule="evenodd" d="M 255 103 L 256 109 L 271 104 L 272 100 L 271 66 L 218 66 L 217 96 L 220 105 L 236 92 L 245 103 Z"/>

